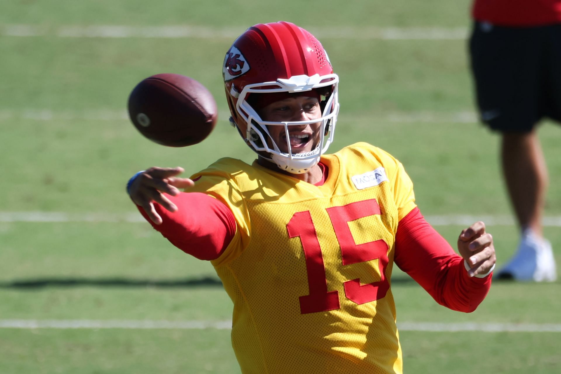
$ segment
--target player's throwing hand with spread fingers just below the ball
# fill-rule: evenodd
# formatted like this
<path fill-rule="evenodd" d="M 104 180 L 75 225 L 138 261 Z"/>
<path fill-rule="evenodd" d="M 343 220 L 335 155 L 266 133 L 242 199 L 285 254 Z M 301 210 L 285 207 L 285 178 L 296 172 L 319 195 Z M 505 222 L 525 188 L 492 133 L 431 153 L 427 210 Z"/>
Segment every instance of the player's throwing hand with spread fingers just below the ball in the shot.
<path fill-rule="evenodd" d="M 183 173 L 183 168 L 150 168 L 139 174 L 132 182 L 129 194 L 136 205 L 141 206 L 150 219 L 157 225 L 162 224 L 162 217 L 154 209 L 154 201 L 165 209 L 174 212 L 177 206 L 163 195 L 171 196 L 180 193 L 179 188 L 191 187 L 195 184 L 189 178 L 178 178 Z"/>

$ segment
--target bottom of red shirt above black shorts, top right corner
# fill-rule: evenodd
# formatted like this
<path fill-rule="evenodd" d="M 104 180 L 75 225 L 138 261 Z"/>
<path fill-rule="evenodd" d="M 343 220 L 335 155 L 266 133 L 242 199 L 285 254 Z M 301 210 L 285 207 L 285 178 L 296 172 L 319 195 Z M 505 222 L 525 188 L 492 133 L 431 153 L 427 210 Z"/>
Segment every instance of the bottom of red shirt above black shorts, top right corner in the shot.
<path fill-rule="evenodd" d="M 561 24 L 561 0 L 475 0 L 472 16 L 500 26 Z"/>

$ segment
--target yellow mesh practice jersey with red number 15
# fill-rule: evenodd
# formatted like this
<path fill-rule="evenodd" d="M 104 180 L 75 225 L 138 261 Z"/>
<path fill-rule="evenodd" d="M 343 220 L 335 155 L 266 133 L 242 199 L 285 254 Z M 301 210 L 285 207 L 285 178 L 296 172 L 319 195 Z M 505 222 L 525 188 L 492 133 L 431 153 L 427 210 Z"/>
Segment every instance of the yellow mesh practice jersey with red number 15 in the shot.
<path fill-rule="evenodd" d="M 234 304 L 236 357 L 244 374 L 401 373 L 390 276 L 411 180 L 366 143 L 321 162 L 322 186 L 229 158 L 193 176 L 189 191 L 237 222 L 212 261 Z"/>

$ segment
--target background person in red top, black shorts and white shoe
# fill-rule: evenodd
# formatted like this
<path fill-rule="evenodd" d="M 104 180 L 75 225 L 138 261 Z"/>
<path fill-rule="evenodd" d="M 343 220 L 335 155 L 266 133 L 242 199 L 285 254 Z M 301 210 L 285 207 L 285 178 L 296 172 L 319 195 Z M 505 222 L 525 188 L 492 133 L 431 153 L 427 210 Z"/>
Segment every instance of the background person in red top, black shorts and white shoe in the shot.
<path fill-rule="evenodd" d="M 481 121 L 500 133 L 504 180 L 521 236 L 498 278 L 554 281 L 542 215 L 548 171 L 537 124 L 561 121 L 561 0 L 475 0 L 471 68 Z"/>

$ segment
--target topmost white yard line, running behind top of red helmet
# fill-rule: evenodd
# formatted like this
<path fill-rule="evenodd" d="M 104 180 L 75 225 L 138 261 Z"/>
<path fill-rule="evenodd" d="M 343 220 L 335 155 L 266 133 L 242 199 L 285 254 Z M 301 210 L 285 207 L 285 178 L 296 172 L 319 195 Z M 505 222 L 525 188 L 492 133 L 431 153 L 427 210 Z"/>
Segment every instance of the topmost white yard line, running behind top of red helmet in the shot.
<path fill-rule="evenodd" d="M 463 40 L 465 27 L 307 27 L 320 39 L 357 40 Z M 124 26 L 90 25 L 45 27 L 37 25 L 0 25 L 0 36 L 57 38 L 197 38 L 233 39 L 245 27 L 206 27 L 189 25 Z"/>

